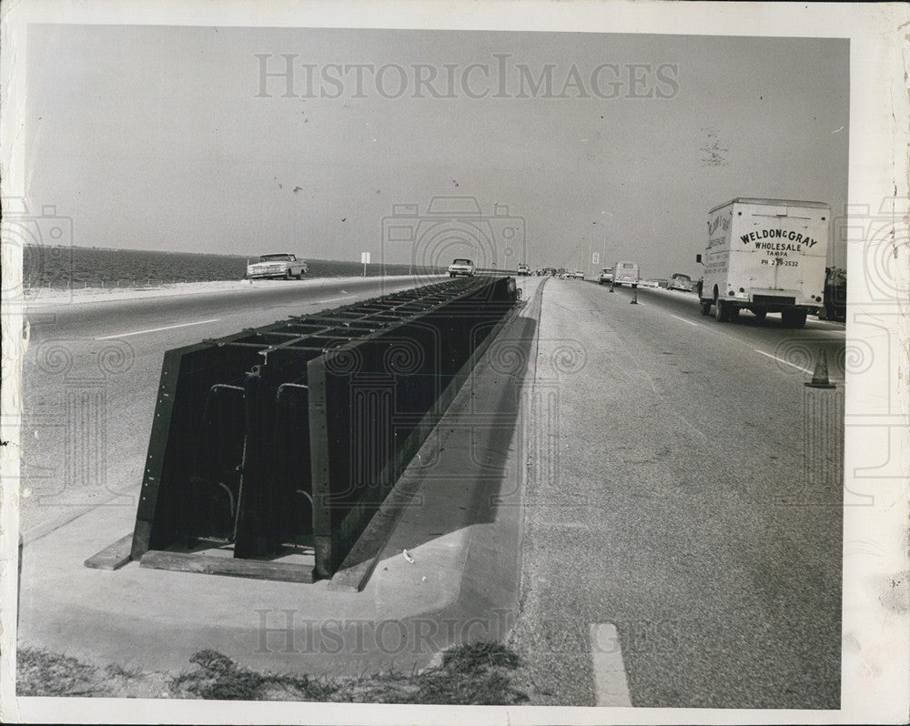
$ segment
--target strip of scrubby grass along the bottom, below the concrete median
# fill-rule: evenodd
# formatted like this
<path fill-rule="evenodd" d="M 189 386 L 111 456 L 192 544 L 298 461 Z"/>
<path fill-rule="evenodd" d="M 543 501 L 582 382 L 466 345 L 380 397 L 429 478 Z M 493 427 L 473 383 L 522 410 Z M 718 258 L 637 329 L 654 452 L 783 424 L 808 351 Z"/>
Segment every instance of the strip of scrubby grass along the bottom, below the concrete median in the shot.
<path fill-rule="evenodd" d="M 200 650 L 194 668 L 176 677 L 120 665 L 96 668 L 46 650 L 18 653 L 21 696 L 143 696 L 218 701 L 334 701 L 514 705 L 528 701 L 513 677 L 514 651 L 498 642 L 454 646 L 440 665 L 410 674 L 389 671 L 359 678 L 311 678 L 248 669 L 217 650 Z"/>

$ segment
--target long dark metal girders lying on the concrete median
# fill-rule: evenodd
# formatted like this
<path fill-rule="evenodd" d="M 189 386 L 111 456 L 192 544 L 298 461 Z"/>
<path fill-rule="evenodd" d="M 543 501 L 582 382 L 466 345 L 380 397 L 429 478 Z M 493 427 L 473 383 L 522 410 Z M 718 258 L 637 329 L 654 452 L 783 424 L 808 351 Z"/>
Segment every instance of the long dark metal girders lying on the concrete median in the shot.
<path fill-rule="evenodd" d="M 167 351 L 129 559 L 330 577 L 515 299 L 460 278 Z"/>

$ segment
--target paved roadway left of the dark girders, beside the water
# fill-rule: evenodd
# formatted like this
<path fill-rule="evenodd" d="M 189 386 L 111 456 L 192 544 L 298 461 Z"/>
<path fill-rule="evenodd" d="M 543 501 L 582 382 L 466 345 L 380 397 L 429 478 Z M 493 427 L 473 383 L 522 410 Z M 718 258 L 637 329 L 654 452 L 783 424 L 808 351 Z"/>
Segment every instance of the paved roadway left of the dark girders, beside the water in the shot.
<path fill-rule="evenodd" d="M 21 388 L 25 541 L 86 507 L 135 508 L 165 350 L 439 279 L 447 278 L 257 281 L 30 310 Z"/>

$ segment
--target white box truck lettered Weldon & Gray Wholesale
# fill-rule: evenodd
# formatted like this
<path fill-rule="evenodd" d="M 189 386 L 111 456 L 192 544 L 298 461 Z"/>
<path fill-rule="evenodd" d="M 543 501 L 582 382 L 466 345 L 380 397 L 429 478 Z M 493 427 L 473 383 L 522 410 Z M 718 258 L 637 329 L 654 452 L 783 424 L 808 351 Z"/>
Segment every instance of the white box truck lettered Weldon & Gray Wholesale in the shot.
<path fill-rule="evenodd" d="M 831 209 L 821 202 L 736 198 L 708 214 L 699 309 L 721 322 L 743 308 L 802 328 L 824 306 Z"/>

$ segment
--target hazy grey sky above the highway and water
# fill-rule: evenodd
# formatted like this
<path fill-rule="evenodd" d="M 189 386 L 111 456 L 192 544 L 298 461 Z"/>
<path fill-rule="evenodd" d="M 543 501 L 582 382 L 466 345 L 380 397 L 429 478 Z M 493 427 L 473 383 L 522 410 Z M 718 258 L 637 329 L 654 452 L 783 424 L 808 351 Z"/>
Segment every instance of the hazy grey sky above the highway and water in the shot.
<path fill-rule="evenodd" d="M 481 255 L 425 219 L 460 196 L 500 267 L 587 271 L 606 245 L 608 264 L 668 277 L 697 274 L 727 199 L 836 216 L 847 198 L 845 40 L 110 25 L 27 40 L 26 201 L 72 217 L 80 246 L 447 264 Z M 393 205 L 417 216 L 384 222 Z"/>

